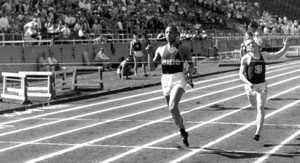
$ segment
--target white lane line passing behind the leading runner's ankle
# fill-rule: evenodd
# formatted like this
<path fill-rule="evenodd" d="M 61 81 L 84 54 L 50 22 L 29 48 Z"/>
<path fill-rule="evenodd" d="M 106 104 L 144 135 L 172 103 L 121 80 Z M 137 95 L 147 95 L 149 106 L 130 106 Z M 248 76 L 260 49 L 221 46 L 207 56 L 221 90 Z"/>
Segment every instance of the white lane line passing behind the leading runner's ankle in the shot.
<path fill-rule="evenodd" d="M 277 83 L 276 83 L 276 85 L 277 85 Z M 273 85 L 273 86 L 274 86 L 274 85 Z M 284 92 L 281 92 L 281 93 L 279 93 L 279 94 L 276 94 L 276 95 L 270 97 L 269 99 L 275 98 L 275 97 L 277 97 L 277 96 L 280 96 L 280 95 L 282 95 L 282 94 L 288 93 L 288 92 L 293 91 L 293 90 L 296 90 L 296 89 L 298 89 L 298 88 L 300 88 L 300 85 L 297 86 L 297 87 L 294 87 L 294 88 L 292 88 L 292 89 L 286 90 L 286 91 L 284 91 Z M 244 110 L 244 109 L 246 109 L 246 108 L 248 108 L 248 107 L 250 107 L 250 105 L 244 106 L 244 107 L 242 107 L 241 109 L 238 109 L 238 110 L 229 112 L 229 113 L 224 114 L 224 115 L 222 115 L 222 116 L 213 118 L 213 119 L 211 119 L 211 120 L 209 120 L 209 121 L 206 121 L 205 123 L 202 123 L 202 124 L 199 124 L 199 125 L 190 127 L 190 128 L 187 129 L 187 131 L 194 130 L 194 129 L 196 129 L 196 128 L 199 128 L 199 127 L 202 127 L 202 126 L 207 125 L 207 124 L 209 124 L 209 123 L 212 123 L 212 122 L 215 122 L 215 121 L 217 121 L 217 120 L 220 120 L 220 119 L 222 119 L 222 118 L 224 118 L 224 117 L 228 117 L 229 115 L 232 115 L 232 114 L 235 114 L 235 113 L 237 113 L 237 112 L 240 112 L 240 111 L 242 111 L 242 110 Z M 197 108 L 196 108 L 196 109 L 197 109 Z M 193 110 L 195 110 L 195 109 L 193 109 Z M 190 110 L 190 111 L 192 111 L 192 110 Z M 182 114 L 184 114 L 184 113 L 185 113 L 185 112 L 183 112 Z M 254 123 L 253 123 L 253 124 L 254 124 Z M 251 125 L 253 125 L 253 124 L 251 123 Z M 251 125 L 249 125 L 249 126 L 251 126 Z M 129 150 L 129 151 L 124 152 L 124 153 L 122 153 L 122 154 L 116 155 L 116 156 L 114 156 L 114 157 L 112 157 L 112 158 L 110 158 L 110 159 L 104 160 L 104 161 L 101 162 L 101 163 L 108 163 L 108 162 L 112 162 L 112 161 L 118 160 L 118 159 L 120 159 L 120 158 L 122 158 L 122 157 L 125 157 L 125 156 L 130 155 L 130 154 L 135 153 L 135 152 L 138 152 L 138 151 L 144 149 L 145 147 L 155 145 L 155 144 L 157 144 L 157 143 L 163 142 L 163 141 L 165 141 L 165 140 L 167 140 L 167 139 L 170 139 L 170 138 L 172 138 L 172 137 L 174 137 L 174 136 L 177 136 L 177 135 L 179 135 L 178 132 L 177 132 L 177 133 L 174 133 L 174 134 L 172 134 L 172 135 L 163 137 L 163 138 L 161 138 L 161 139 L 157 139 L 157 140 L 152 141 L 152 142 L 150 142 L 150 143 L 144 144 L 144 145 L 142 145 L 142 146 L 139 146 L 138 148 Z M 225 136 L 226 136 L 226 135 L 225 135 Z M 226 136 L 226 137 L 227 137 L 227 136 Z M 218 140 L 219 140 L 219 139 L 218 139 Z M 202 148 L 203 148 L 203 147 L 201 147 L 200 150 L 202 150 Z M 194 152 L 194 151 L 198 151 L 198 150 L 197 150 L 197 149 L 194 149 L 193 152 Z M 197 152 L 196 152 L 196 153 L 197 153 Z M 48 156 L 48 157 L 49 157 L 49 156 Z"/>

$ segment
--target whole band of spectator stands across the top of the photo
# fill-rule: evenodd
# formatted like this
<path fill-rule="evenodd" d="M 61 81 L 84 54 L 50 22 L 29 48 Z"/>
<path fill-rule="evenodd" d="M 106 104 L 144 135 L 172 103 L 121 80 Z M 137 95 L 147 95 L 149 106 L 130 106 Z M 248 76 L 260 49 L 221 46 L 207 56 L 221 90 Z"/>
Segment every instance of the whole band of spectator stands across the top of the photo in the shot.
<path fill-rule="evenodd" d="M 206 32 L 299 35 L 298 0 L 0 0 L 0 33 L 22 38 L 91 38 L 160 33 L 168 24 L 183 39 Z"/>

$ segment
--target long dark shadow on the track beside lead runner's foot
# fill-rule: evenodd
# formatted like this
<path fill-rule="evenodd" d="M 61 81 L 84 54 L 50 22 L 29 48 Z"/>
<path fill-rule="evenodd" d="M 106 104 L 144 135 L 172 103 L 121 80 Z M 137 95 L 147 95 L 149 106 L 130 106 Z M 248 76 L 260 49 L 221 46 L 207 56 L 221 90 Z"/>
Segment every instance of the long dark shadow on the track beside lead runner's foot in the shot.
<path fill-rule="evenodd" d="M 195 148 L 195 147 L 191 147 L 191 148 Z M 198 149 L 199 148 L 200 147 L 198 147 Z M 227 151 L 227 150 L 223 150 L 223 149 L 213 149 L 213 148 L 204 148 L 204 150 L 205 151 L 199 152 L 199 154 L 217 154 L 217 155 L 224 156 L 224 157 L 227 157 L 230 159 L 260 158 L 265 155 L 264 153 L 259 153 L 259 152 Z M 273 156 L 293 158 L 297 155 L 296 154 L 273 154 Z"/>

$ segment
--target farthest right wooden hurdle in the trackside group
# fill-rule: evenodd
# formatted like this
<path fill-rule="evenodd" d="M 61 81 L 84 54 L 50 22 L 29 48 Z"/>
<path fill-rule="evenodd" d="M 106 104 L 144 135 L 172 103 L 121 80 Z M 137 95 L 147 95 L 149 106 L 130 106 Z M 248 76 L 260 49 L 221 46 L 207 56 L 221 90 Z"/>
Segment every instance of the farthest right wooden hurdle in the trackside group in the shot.
<path fill-rule="evenodd" d="M 77 91 L 79 89 L 103 89 L 103 76 L 102 71 L 103 67 L 101 66 L 74 66 L 74 67 L 62 67 L 63 71 L 72 70 L 73 71 L 73 79 L 72 79 L 72 90 Z M 97 73 L 98 77 L 96 78 L 87 78 L 84 79 L 84 83 L 79 82 L 79 75 L 89 73 Z M 94 79 L 92 81 L 92 79 Z"/>

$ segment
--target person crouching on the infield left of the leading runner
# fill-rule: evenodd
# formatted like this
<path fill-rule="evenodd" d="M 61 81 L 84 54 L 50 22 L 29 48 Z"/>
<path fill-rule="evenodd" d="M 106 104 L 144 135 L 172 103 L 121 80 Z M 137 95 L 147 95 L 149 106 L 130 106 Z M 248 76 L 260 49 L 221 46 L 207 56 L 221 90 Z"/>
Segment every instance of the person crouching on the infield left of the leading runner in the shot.
<path fill-rule="evenodd" d="M 128 56 L 125 60 L 123 60 L 120 63 L 117 69 L 117 74 L 119 75 L 120 79 L 122 80 L 129 79 L 129 76 L 134 74 L 131 71 L 133 67 L 134 67 L 133 57 Z"/>

